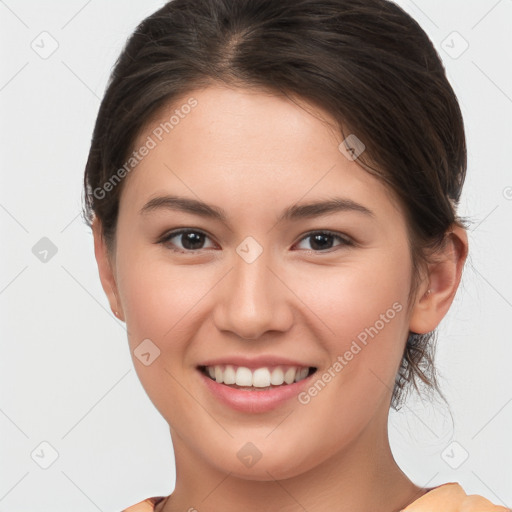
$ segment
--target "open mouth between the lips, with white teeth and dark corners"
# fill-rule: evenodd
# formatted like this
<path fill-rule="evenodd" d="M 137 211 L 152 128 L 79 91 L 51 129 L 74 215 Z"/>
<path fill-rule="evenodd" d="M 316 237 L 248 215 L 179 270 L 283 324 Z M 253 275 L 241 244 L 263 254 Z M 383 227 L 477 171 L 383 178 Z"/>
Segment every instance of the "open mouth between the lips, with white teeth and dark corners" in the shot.
<path fill-rule="evenodd" d="M 314 366 L 278 365 L 251 369 L 230 364 L 198 366 L 197 369 L 217 384 L 245 391 L 284 388 L 307 379 L 317 371 Z"/>

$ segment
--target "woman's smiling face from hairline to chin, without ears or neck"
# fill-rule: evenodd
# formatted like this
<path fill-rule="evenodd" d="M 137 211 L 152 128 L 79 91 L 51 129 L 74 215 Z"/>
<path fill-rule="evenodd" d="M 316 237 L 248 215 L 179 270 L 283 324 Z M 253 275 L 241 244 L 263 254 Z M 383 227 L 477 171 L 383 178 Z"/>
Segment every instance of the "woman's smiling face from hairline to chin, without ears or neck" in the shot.
<path fill-rule="evenodd" d="M 120 200 L 113 279 L 142 385 L 179 453 L 247 479 L 371 448 L 410 327 L 404 214 L 308 107 L 193 91 L 140 134 L 155 144 Z"/>

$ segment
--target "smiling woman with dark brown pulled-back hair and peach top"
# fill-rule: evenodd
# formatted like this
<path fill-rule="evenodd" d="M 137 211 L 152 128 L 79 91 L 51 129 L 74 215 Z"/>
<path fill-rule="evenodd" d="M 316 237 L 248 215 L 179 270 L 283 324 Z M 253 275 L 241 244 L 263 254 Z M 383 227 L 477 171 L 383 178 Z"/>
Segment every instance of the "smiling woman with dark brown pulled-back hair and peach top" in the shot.
<path fill-rule="evenodd" d="M 386 0 L 174 0 L 113 70 L 85 174 L 100 279 L 169 423 L 155 510 L 505 511 L 414 484 L 468 242 L 460 109 Z"/>

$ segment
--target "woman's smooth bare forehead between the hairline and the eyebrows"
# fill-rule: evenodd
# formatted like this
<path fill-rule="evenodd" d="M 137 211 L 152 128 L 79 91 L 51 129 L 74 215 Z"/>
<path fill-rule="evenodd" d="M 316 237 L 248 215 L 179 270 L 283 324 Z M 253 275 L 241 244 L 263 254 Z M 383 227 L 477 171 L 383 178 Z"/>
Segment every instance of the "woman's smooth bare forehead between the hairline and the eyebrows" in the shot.
<path fill-rule="evenodd" d="M 390 190 L 340 151 L 335 119 L 295 101 L 215 86 L 166 105 L 134 145 L 152 141 L 128 177 L 129 202 L 172 189 L 218 204 L 236 198 L 240 207 L 272 208 L 336 193 L 396 209 Z"/>

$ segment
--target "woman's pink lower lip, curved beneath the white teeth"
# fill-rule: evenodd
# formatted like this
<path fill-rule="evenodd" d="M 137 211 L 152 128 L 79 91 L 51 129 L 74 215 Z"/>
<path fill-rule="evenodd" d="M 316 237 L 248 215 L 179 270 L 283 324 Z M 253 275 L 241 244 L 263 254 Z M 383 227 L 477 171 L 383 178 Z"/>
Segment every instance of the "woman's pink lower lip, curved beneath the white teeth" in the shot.
<path fill-rule="evenodd" d="M 310 378 L 314 375 L 312 374 L 299 382 L 282 385 L 266 391 L 247 391 L 219 384 L 217 381 L 207 377 L 202 371 L 197 371 L 206 387 L 220 402 L 237 411 L 250 413 L 271 411 L 288 400 L 297 397 L 301 390 L 309 385 Z"/>

